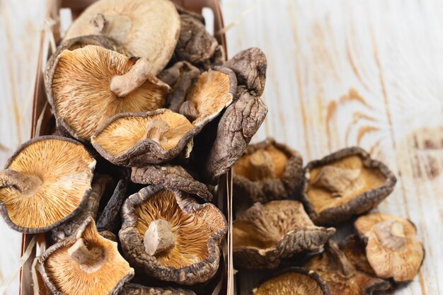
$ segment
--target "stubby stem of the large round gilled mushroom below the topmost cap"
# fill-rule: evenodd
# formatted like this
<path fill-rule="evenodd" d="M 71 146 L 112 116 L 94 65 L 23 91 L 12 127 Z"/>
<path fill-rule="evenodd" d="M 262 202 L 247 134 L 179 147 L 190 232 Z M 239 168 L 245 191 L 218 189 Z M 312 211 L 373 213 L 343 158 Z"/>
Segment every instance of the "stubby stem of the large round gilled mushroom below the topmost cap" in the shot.
<path fill-rule="evenodd" d="M 110 81 L 110 91 L 119 98 L 125 97 L 142 86 L 149 76 L 151 76 L 151 63 L 144 57 L 139 58 L 126 74 L 113 76 Z"/>

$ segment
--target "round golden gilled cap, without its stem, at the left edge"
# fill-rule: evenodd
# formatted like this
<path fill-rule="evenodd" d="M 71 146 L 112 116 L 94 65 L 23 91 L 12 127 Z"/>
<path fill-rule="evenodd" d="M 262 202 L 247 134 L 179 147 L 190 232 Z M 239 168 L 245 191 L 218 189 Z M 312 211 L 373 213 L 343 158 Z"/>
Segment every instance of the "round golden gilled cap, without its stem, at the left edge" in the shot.
<path fill-rule="evenodd" d="M 24 194 L 2 187 L 0 179 L 0 209 L 6 223 L 22 233 L 42 233 L 79 214 L 91 195 L 95 167 L 96 160 L 72 139 L 45 136 L 26 141 L 5 168 L 38 178 L 40 184 L 29 185 L 31 192 Z"/>

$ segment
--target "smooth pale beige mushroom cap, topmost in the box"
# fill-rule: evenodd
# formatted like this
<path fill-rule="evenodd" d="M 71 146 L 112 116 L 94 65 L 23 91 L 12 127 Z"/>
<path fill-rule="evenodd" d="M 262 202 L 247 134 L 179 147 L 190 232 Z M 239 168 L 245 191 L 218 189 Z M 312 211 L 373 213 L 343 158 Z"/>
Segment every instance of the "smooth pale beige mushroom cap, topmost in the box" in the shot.
<path fill-rule="evenodd" d="M 81 13 L 64 39 L 105 35 L 127 56 L 149 59 L 156 75 L 171 59 L 179 34 L 180 16 L 171 1 L 100 0 Z"/>

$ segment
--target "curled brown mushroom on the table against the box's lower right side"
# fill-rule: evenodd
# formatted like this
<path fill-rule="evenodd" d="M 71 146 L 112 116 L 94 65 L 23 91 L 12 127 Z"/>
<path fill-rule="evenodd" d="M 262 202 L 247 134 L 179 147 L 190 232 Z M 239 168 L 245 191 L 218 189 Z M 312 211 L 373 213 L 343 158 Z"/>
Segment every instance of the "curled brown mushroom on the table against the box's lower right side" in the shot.
<path fill-rule="evenodd" d="M 275 268 L 280 259 L 323 249 L 335 229 L 314 226 L 297 201 L 255 203 L 234 221 L 234 262 L 242 268 Z"/>

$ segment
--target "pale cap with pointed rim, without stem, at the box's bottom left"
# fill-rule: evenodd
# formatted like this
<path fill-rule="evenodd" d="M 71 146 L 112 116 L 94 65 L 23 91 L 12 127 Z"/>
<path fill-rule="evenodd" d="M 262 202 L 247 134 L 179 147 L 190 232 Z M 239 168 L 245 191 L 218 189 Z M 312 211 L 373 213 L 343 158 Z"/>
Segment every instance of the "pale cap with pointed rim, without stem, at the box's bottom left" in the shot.
<path fill-rule="evenodd" d="M 103 250 L 104 260 L 98 270 L 88 271 L 87 266 L 72 260 L 68 250 L 75 243 L 74 237 L 71 238 L 71 243 L 62 241 L 61 243 L 66 243 L 62 247 L 54 245 L 56 250 L 48 249 L 52 253 L 45 255 L 42 263 L 52 285 L 64 295 L 108 295 L 122 280 L 132 277 L 134 270 L 118 252 L 117 243 L 98 234 L 92 218 L 85 222 L 86 227 L 85 224 L 82 225 L 75 238 L 83 238 L 88 249 Z"/>

